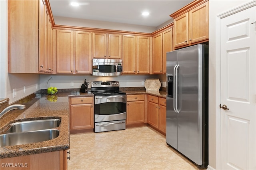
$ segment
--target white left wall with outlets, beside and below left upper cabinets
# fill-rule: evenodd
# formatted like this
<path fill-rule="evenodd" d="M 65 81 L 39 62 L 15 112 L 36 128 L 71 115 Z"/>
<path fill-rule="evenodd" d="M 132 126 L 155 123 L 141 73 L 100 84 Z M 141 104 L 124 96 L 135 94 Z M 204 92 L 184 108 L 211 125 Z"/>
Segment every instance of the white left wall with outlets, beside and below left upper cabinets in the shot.
<path fill-rule="evenodd" d="M 28 96 L 37 90 L 39 75 L 37 74 L 9 74 L 8 73 L 8 2 L 0 0 L 0 98 L 9 98 L 9 104 Z M 24 86 L 26 92 L 24 93 Z M 17 96 L 13 98 L 12 89 L 17 89 Z"/>

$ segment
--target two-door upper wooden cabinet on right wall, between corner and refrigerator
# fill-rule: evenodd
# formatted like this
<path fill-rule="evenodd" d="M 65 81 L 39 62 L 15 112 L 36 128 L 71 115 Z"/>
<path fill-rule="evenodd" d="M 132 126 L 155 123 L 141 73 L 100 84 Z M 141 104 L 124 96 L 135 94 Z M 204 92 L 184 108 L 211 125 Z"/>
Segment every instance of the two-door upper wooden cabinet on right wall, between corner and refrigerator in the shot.
<path fill-rule="evenodd" d="M 166 52 L 173 50 L 172 28 L 153 36 L 152 73 L 166 73 Z"/>

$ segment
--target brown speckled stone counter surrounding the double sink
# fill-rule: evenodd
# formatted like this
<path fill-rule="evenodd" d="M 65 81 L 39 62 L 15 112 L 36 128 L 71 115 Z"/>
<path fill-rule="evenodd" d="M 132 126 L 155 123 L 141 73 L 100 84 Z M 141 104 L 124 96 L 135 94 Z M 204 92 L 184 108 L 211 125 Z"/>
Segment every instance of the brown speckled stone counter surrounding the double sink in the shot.
<path fill-rule="evenodd" d="M 34 97 L 33 97 L 34 95 Z M 68 98 L 74 96 L 90 96 L 93 94 L 79 92 L 58 93 L 55 99 L 47 94 L 33 94 L 31 98 L 20 100 L 18 104 L 26 105 L 24 110 L 12 110 L 1 118 L 0 132 L 9 124 L 26 120 L 38 120 L 59 118 L 60 133 L 57 138 L 52 140 L 37 142 L 32 144 L 23 144 L 16 146 L 4 146 L 0 148 L 1 158 L 10 158 L 16 156 L 25 156 L 30 154 L 39 154 L 45 152 L 54 152 L 67 150 L 70 148 L 70 131 L 69 131 L 69 110 Z"/>

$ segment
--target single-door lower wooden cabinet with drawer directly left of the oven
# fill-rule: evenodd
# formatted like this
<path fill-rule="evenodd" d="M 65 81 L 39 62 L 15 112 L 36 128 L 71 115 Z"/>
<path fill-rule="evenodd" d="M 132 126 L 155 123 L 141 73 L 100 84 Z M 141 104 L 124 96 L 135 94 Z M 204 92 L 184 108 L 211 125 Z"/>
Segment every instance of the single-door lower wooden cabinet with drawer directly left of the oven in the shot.
<path fill-rule="evenodd" d="M 71 97 L 70 106 L 70 133 L 77 130 L 94 128 L 94 100 L 93 96 Z"/>

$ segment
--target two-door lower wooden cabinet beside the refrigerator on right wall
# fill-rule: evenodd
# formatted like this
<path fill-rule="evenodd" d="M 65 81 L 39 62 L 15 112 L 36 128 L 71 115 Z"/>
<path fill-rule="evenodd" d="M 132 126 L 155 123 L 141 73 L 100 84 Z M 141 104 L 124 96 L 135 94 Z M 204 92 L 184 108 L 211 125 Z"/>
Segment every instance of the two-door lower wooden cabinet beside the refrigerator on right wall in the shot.
<path fill-rule="evenodd" d="M 148 94 L 148 124 L 166 134 L 166 99 Z"/>

